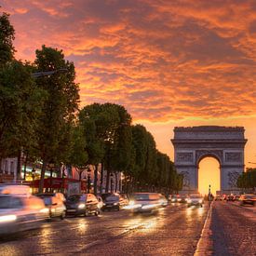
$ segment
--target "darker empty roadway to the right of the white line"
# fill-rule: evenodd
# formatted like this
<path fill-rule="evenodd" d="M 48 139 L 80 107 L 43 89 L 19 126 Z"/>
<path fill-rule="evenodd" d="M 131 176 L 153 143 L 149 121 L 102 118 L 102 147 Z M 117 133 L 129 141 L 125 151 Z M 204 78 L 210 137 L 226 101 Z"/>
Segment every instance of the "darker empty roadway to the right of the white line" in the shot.
<path fill-rule="evenodd" d="M 211 217 L 214 255 L 256 255 L 256 207 L 218 201 Z"/>

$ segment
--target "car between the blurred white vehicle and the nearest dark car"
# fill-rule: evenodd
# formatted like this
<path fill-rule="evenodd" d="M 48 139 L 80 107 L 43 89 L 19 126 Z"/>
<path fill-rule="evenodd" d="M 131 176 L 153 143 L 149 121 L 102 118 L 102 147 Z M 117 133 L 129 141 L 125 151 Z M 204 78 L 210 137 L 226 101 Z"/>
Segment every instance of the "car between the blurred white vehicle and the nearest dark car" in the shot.
<path fill-rule="evenodd" d="M 64 195 L 56 194 L 39 194 L 39 198 L 43 199 L 47 209 L 49 209 L 49 219 L 60 217 L 61 220 L 65 218 L 66 207 L 64 205 Z"/>

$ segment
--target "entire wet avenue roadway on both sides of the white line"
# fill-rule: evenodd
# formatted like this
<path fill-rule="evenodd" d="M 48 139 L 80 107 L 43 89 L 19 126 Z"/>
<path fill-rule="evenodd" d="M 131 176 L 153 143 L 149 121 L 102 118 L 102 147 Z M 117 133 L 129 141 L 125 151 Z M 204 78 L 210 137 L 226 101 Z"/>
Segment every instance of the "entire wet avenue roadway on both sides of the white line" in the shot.
<path fill-rule="evenodd" d="M 214 202 L 67 218 L 0 240 L 0 255 L 256 255 L 255 207 Z M 209 214 L 210 213 L 210 214 Z M 206 225 L 208 217 L 209 225 Z M 209 226 L 209 231 L 207 231 Z M 209 247 L 209 248 L 208 248 Z M 204 250 L 205 249 L 205 250 Z"/>

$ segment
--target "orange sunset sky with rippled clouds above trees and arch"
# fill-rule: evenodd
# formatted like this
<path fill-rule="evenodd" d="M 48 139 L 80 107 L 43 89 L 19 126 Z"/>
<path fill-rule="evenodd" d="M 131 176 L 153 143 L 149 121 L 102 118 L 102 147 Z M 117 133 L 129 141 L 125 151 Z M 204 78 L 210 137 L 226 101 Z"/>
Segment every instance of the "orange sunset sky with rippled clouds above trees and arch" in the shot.
<path fill-rule="evenodd" d="M 124 105 L 173 159 L 176 126 L 244 126 L 256 167 L 256 1 L 2 0 L 16 57 L 74 61 L 81 106 Z"/>

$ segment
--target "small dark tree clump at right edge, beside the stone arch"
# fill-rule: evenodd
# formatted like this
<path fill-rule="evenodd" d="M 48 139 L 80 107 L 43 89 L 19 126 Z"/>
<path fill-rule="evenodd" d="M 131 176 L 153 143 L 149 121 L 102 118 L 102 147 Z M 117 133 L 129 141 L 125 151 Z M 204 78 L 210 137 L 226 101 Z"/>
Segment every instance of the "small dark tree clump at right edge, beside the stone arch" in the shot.
<path fill-rule="evenodd" d="M 253 192 L 256 189 L 256 168 L 248 168 L 237 179 L 236 185 L 245 192 Z"/>

